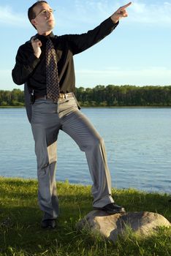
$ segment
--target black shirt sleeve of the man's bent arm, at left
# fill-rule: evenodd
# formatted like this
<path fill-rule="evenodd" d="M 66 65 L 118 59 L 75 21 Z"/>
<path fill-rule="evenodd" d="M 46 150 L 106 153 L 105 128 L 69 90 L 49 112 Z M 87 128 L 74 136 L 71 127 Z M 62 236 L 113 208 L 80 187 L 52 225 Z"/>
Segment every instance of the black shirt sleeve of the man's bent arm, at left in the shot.
<path fill-rule="evenodd" d="M 39 64 L 40 59 L 37 59 L 31 48 L 23 45 L 18 49 L 15 61 L 15 67 L 12 69 L 12 79 L 14 83 L 21 85 L 26 83 L 37 64 Z"/>

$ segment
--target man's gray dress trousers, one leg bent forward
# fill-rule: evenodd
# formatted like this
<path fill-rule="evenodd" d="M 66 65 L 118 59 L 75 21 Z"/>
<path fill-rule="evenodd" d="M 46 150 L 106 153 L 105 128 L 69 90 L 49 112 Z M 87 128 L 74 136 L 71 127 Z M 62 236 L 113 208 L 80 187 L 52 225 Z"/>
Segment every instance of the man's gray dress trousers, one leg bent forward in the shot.
<path fill-rule="evenodd" d="M 57 104 L 50 99 L 37 99 L 32 105 L 31 129 L 37 156 L 38 202 L 44 212 L 43 219 L 58 217 L 56 141 L 59 129 L 66 132 L 75 140 L 80 150 L 86 153 L 93 181 L 93 206 L 103 207 L 114 202 L 104 141 L 77 108 L 74 94 L 69 95 L 58 99 Z"/>

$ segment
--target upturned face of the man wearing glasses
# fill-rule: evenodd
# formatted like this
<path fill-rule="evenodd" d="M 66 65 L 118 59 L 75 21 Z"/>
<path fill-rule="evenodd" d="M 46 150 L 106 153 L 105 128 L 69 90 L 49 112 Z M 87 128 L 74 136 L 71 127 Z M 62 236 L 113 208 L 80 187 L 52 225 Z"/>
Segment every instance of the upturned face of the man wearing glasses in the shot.
<path fill-rule="evenodd" d="M 53 9 L 46 3 L 38 4 L 34 7 L 36 18 L 31 20 L 31 23 L 36 26 L 37 31 L 45 33 L 50 31 L 55 26 L 55 19 L 53 17 Z"/>

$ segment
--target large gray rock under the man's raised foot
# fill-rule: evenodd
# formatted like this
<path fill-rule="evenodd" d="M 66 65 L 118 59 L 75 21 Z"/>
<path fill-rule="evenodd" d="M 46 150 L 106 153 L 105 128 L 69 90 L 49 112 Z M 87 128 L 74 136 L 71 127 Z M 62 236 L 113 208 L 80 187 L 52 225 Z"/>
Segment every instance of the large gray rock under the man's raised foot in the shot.
<path fill-rule="evenodd" d="M 162 215 L 148 211 L 112 215 L 104 211 L 91 211 L 77 223 L 78 230 L 86 229 L 94 234 L 99 233 L 113 242 L 117 240 L 118 234 L 125 233 L 128 227 L 137 235 L 148 236 L 160 226 L 171 227 L 171 224 Z"/>

